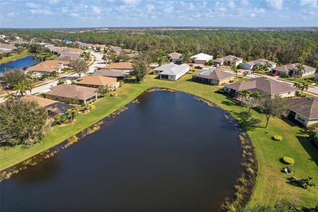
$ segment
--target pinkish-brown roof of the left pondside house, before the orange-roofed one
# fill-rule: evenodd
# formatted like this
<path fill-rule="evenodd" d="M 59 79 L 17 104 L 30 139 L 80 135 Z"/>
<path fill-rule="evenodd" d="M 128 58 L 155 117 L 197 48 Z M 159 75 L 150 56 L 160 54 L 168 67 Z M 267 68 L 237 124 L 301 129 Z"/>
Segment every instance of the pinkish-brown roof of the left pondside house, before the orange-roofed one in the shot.
<path fill-rule="evenodd" d="M 86 100 L 96 95 L 97 89 L 76 85 L 62 84 L 51 88 L 51 91 L 45 93 L 47 95 L 72 98 L 78 100 Z"/>

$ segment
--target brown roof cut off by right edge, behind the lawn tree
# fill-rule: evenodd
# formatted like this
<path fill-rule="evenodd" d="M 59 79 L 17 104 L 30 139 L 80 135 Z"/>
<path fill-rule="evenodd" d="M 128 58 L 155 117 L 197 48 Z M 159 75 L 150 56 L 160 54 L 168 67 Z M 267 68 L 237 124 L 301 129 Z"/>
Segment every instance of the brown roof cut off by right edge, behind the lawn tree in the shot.
<path fill-rule="evenodd" d="M 318 98 L 292 98 L 288 99 L 289 109 L 302 116 L 313 119 L 318 118 Z"/>

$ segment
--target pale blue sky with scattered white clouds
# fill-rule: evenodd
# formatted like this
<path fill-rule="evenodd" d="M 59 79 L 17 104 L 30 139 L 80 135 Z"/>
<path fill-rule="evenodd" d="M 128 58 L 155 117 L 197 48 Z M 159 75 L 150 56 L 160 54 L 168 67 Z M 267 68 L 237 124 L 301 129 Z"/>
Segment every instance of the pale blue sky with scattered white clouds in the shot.
<path fill-rule="evenodd" d="M 317 0 L 1 0 L 0 26 L 318 26 Z"/>

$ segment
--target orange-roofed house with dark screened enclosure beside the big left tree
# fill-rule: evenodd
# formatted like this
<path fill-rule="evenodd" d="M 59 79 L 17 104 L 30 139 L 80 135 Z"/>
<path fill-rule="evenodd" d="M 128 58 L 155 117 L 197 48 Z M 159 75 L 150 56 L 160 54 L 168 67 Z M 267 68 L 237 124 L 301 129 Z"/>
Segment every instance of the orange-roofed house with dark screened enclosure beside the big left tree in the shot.
<path fill-rule="evenodd" d="M 32 95 L 25 95 L 21 97 L 19 101 L 34 101 L 39 106 L 44 107 L 48 111 L 48 115 L 51 118 L 55 118 L 57 115 L 64 115 L 67 109 L 74 108 L 75 106 L 67 105 L 64 103 L 60 103 L 58 101 L 32 96 Z"/>

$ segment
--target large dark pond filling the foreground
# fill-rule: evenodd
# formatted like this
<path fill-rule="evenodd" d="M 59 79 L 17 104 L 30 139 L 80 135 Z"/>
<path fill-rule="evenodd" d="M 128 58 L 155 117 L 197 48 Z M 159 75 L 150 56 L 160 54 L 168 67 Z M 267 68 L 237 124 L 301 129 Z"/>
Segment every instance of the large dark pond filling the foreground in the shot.
<path fill-rule="evenodd" d="M 138 97 L 100 130 L 2 181 L 1 212 L 217 211 L 242 171 L 239 130 L 194 98 Z"/>

